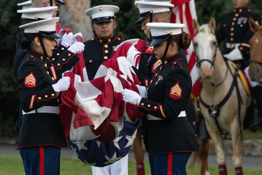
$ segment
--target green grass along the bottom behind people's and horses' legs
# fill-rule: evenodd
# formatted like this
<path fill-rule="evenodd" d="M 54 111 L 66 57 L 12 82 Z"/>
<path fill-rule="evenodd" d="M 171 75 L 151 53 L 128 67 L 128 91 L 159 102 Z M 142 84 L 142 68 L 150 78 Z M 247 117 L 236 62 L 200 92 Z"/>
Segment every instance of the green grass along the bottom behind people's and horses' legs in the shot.
<path fill-rule="evenodd" d="M 150 175 L 149 161 L 144 161 L 145 173 Z M 216 166 L 209 166 L 210 174 L 218 175 Z M 200 166 L 197 164 L 193 169 L 187 167 L 188 175 L 197 175 L 200 172 Z M 243 168 L 244 174 L 262 175 L 262 168 Z M 227 167 L 228 175 L 234 175 L 234 168 Z M 0 156 L 0 175 L 24 175 L 23 161 L 20 156 Z M 61 157 L 60 161 L 61 175 L 92 175 L 91 166 L 84 164 L 79 159 Z M 128 175 L 136 175 L 135 160 L 128 161 Z"/>

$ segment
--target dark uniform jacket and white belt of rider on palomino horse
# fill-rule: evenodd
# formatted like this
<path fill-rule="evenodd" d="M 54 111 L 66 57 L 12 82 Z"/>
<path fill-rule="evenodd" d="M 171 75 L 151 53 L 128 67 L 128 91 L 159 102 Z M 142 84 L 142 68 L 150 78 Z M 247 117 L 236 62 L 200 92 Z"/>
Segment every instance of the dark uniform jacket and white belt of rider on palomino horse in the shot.
<path fill-rule="evenodd" d="M 241 70 L 244 70 L 244 68 L 249 65 L 250 45 L 248 42 L 254 34 L 254 32 L 249 28 L 249 17 L 252 17 L 259 25 L 261 25 L 260 15 L 245 7 L 235 9 L 233 12 L 225 14 L 221 20 L 219 29 L 215 32 L 218 44 L 226 39 L 226 49 L 224 54 L 229 54 L 234 50 L 232 53 L 236 52 L 236 54 L 230 57 L 238 55 L 241 57 L 242 55 L 242 59 L 237 61 L 233 60 L 240 65 Z M 228 57 L 228 55 L 226 55 L 226 57 Z"/>

